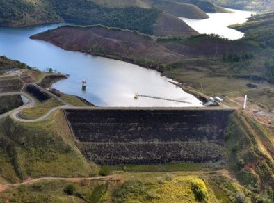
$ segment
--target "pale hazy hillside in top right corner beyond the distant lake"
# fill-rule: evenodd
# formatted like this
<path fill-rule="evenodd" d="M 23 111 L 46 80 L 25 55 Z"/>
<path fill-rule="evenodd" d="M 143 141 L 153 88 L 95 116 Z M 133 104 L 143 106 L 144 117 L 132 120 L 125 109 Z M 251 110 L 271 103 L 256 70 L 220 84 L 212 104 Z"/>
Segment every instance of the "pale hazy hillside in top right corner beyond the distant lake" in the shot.
<path fill-rule="evenodd" d="M 225 6 L 227 8 L 236 8 L 240 10 L 257 10 L 266 11 L 274 10 L 273 0 L 211 0 L 220 6 Z"/>

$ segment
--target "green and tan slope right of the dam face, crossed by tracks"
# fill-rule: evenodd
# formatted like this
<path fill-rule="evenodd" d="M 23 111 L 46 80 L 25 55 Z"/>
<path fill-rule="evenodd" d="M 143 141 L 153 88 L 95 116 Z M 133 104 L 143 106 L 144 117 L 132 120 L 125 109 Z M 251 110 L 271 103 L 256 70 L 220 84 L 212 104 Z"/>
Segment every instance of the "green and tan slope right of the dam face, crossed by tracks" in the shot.
<path fill-rule="evenodd" d="M 250 122 L 250 118 L 244 113 L 234 113 L 227 127 L 226 146 L 229 165 L 237 179 L 255 193 L 259 190 L 266 191 L 266 198 L 270 201 L 273 200 L 273 193 L 270 191 L 274 190 L 274 165 L 271 155 L 260 144 L 261 140 L 268 139 L 268 134 L 259 129 L 264 128 Z"/>

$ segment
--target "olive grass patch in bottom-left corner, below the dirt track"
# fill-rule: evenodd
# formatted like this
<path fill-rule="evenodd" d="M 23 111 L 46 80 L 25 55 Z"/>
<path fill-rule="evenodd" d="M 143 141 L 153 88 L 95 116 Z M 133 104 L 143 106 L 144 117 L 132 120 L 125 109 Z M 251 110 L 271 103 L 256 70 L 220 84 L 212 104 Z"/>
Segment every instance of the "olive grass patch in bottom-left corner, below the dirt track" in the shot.
<path fill-rule="evenodd" d="M 95 195 L 91 194 L 97 193 L 99 186 L 97 182 L 88 180 L 42 180 L 9 188 L 1 193 L 0 202 L 96 203 Z M 102 186 L 106 188 L 105 184 Z"/>

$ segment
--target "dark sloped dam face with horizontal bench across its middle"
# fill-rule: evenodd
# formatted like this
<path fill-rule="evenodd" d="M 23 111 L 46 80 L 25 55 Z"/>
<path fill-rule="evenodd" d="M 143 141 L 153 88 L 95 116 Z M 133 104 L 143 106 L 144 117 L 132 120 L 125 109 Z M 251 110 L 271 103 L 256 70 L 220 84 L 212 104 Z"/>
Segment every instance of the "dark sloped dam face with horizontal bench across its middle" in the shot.
<path fill-rule="evenodd" d="M 92 108 L 65 110 L 76 143 L 102 165 L 225 160 L 232 109 Z"/>

